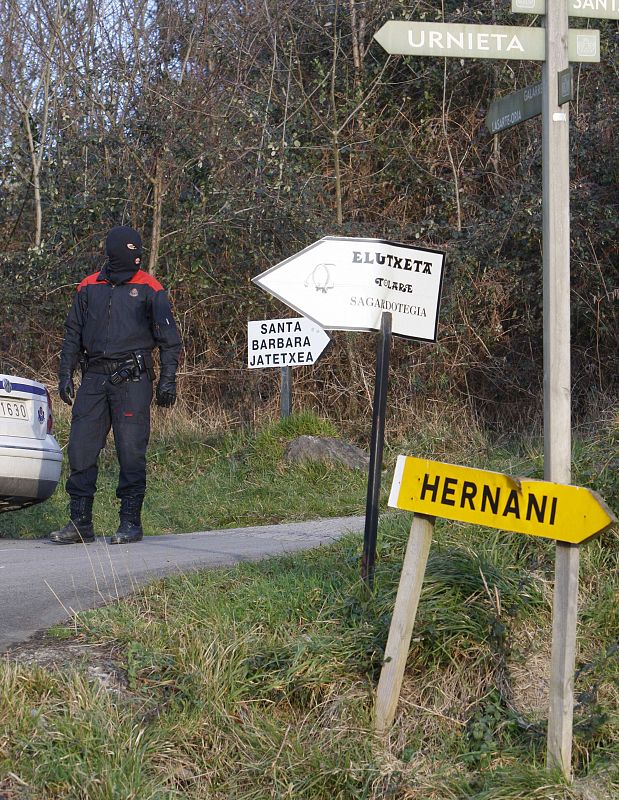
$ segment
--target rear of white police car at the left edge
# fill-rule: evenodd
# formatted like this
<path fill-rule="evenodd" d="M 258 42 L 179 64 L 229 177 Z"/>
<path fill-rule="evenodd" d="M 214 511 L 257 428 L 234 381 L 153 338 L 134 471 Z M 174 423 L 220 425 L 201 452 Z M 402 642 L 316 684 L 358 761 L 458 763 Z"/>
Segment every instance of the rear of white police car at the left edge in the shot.
<path fill-rule="evenodd" d="M 60 480 L 52 401 L 41 383 L 0 373 L 0 511 L 40 503 Z"/>

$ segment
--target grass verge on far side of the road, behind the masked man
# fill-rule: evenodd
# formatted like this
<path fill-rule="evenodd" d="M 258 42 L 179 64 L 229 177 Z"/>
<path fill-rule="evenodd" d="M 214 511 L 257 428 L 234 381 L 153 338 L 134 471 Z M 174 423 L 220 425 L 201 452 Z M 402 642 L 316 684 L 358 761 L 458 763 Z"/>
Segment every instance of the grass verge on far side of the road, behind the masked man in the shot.
<path fill-rule="evenodd" d="M 282 456 L 287 441 L 302 434 L 337 436 L 335 427 L 312 414 L 297 414 L 249 431 L 209 435 L 185 425 L 157 430 L 148 451 L 148 489 L 143 511 L 146 535 L 261 525 L 282 520 L 363 513 L 366 475 L 323 464 L 291 465 Z M 63 416 L 56 435 L 68 440 Z M 0 515 L 0 536 L 45 536 L 65 524 L 68 497 L 63 476 L 45 503 Z M 118 525 L 118 462 L 110 434 L 101 454 L 93 519 L 99 534 Z"/>

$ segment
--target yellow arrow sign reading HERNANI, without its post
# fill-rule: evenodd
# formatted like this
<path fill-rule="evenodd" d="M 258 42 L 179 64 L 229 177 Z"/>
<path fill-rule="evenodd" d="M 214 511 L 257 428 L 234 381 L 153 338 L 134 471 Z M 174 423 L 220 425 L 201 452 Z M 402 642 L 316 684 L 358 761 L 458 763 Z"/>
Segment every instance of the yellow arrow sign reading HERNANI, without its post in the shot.
<path fill-rule="evenodd" d="M 571 544 L 616 522 L 590 489 L 412 456 L 398 456 L 389 505 Z"/>

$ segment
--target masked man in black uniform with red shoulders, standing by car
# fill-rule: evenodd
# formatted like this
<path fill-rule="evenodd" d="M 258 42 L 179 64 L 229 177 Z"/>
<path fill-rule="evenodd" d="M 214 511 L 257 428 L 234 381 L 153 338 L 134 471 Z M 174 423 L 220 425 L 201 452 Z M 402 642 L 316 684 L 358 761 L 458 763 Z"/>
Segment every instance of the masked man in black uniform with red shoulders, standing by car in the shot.
<path fill-rule="evenodd" d="M 124 226 L 112 228 L 105 249 L 107 262 L 79 284 L 65 322 L 58 391 L 68 405 L 75 397 L 66 483 L 71 519 L 50 534 L 57 544 L 95 539 L 92 503 L 98 458 L 110 427 L 120 464 L 120 524 L 110 543 L 140 541 L 155 347 L 160 355 L 157 405 L 176 401 L 181 340 L 166 292 L 140 269 L 140 234 Z M 73 373 L 78 364 L 82 381 L 76 397 Z"/>

